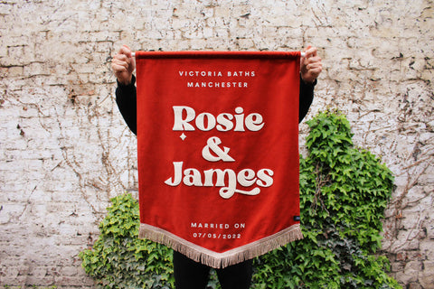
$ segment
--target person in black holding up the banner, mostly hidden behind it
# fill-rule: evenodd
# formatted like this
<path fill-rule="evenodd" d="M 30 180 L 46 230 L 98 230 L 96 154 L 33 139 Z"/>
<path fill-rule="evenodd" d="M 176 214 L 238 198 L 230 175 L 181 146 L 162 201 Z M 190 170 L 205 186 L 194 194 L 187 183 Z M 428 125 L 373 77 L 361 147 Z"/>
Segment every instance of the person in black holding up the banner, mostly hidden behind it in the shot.
<path fill-rule="evenodd" d="M 127 126 L 137 135 L 137 89 L 136 60 L 132 51 L 122 46 L 112 60 L 112 70 L 117 78 L 116 101 Z M 297 70 L 295 70 L 297 72 Z M 316 79 L 322 71 L 321 58 L 316 47 L 308 46 L 300 59 L 298 122 L 307 115 L 313 101 Z M 297 74 L 295 75 L 297 79 Z M 296 95 L 297 96 L 297 95 Z M 297 126 L 297 123 L 295 124 Z M 297 128 L 297 127 L 296 127 Z M 297 145 L 296 145 L 297 146 Z M 222 289 L 247 289 L 252 276 L 252 259 L 216 269 Z M 208 283 L 211 267 L 193 261 L 174 250 L 174 273 L 176 289 L 204 289 Z"/>

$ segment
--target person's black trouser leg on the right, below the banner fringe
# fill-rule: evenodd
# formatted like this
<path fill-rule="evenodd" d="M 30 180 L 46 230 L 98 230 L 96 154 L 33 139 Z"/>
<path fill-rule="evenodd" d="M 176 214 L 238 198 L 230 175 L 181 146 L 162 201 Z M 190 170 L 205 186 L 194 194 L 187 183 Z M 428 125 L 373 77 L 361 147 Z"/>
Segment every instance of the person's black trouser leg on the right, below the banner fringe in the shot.
<path fill-rule="evenodd" d="M 253 274 L 253 260 L 217 269 L 222 289 L 249 289 Z"/>

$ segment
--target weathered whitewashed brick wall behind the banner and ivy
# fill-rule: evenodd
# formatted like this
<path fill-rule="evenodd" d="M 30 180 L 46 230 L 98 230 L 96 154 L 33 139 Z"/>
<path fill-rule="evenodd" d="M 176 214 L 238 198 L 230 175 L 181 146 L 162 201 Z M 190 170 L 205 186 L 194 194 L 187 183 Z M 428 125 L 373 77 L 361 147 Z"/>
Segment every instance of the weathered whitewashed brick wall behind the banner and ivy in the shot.
<path fill-rule="evenodd" d="M 109 198 L 137 189 L 136 139 L 110 59 L 133 50 L 319 48 L 310 116 L 349 118 L 392 169 L 384 254 L 404 287 L 434 288 L 432 1 L 0 2 L 0 285 L 93 287 L 78 253 Z M 301 131 L 307 133 L 307 126 Z"/>

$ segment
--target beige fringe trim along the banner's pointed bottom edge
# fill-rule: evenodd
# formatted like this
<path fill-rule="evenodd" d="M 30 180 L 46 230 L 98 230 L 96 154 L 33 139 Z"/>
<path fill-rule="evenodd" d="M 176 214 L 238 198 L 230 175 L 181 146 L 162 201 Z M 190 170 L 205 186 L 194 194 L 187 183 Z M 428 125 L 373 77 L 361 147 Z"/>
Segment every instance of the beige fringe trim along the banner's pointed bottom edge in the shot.
<path fill-rule="evenodd" d="M 270 251 L 303 238 L 299 224 L 285 228 L 280 232 L 255 242 L 217 253 L 192 242 L 179 238 L 174 234 L 147 224 L 140 224 L 139 238 L 146 238 L 156 243 L 173 248 L 175 251 L 188 256 L 196 262 L 213 268 L 224 268 L 241 263 L 245 260 L 264 255 Z"/>

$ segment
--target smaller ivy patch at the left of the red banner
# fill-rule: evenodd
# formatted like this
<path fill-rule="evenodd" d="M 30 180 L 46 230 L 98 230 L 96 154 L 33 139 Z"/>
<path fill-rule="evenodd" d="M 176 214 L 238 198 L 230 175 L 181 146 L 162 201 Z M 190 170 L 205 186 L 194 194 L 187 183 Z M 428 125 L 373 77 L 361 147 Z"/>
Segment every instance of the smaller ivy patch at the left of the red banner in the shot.
<path fill-rule="evenodd" d="M 172 288 L 172 250 L 138 238 L 138 202 L 130 194 L 111 199 L 92 249 L 80 252 L 86 273 L 103 288 Z"/>

